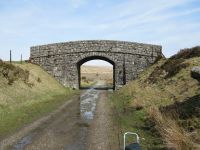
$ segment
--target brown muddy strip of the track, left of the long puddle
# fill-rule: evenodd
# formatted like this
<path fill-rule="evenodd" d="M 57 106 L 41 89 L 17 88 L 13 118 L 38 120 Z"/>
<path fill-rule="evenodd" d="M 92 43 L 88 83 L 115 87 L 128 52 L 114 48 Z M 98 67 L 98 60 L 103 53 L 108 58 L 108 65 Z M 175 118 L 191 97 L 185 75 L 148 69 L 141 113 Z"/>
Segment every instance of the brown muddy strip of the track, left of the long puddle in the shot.
<path fill-rule="evenodd" d="M 82 149 L 79 122 L 79 101 L 73 100 L 67 107 L 29 133 L 12 147 L 15 150 Z M 69 145 L 69 147 L 67 147 Z"/>

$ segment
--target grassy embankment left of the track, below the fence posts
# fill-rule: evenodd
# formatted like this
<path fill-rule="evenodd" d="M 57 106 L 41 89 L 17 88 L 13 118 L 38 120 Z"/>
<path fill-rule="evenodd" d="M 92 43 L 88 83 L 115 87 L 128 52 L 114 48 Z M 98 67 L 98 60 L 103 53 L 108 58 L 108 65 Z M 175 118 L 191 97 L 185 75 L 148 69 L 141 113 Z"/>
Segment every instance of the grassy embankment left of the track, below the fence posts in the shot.
<path fill-rule="evenodd" d="M 39 66 L 0 62 L 0 140 L 55 110 L 75 91 Z"/>

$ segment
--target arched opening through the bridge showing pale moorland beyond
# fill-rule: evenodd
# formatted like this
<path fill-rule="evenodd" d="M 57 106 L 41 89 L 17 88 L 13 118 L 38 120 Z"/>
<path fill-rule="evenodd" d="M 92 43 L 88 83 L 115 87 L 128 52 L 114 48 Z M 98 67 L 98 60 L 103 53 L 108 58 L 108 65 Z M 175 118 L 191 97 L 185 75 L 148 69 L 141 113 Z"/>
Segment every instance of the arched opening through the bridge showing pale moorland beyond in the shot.
<path fill-rule="evenodd" d="M 115 89 L 115 64 L 105 57 L 92 56 L 78 64 L 79 88 Z"/>

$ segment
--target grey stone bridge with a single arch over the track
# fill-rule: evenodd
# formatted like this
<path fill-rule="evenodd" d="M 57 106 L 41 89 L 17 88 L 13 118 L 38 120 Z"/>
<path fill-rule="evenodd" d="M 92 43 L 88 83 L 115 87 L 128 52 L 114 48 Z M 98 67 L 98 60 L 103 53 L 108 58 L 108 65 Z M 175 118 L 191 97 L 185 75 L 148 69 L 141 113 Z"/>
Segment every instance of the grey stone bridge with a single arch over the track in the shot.
<path fill-rule="evenodd" d="M 66 87 L 80 88 L 80 67 L 93 60 L 105 60 L 113 65 L 113 88 L 134 80 L 145 68 L 162 56 L 158 45 L 124 41 L 74 41 L 33 46 L 32 63 L 42 66 Z"/>

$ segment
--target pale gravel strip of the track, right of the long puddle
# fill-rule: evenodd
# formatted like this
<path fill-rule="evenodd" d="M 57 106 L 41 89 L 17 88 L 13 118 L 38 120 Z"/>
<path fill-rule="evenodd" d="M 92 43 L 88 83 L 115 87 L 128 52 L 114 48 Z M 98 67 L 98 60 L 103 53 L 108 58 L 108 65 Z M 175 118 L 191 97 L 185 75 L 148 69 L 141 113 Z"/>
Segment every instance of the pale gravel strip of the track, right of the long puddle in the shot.
<path fill-rule="evenodd" d="M 97 103 L 95 119 L 89 129 L 86 150 L 120 150 L 107 91 L 101 93 Z"/>

